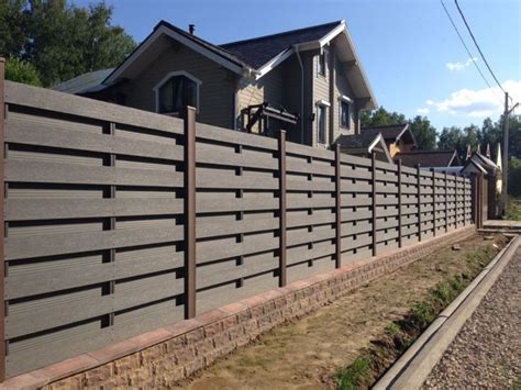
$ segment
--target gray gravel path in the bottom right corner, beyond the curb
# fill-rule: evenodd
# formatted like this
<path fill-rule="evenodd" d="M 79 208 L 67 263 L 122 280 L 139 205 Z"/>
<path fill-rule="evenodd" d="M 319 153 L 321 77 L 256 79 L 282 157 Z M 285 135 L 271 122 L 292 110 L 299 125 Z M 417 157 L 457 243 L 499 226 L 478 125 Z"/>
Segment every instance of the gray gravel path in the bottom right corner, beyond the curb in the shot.
<path fill-rule="evenodd" d="M 521 388 L 521 247 L 423 388 Z"/>

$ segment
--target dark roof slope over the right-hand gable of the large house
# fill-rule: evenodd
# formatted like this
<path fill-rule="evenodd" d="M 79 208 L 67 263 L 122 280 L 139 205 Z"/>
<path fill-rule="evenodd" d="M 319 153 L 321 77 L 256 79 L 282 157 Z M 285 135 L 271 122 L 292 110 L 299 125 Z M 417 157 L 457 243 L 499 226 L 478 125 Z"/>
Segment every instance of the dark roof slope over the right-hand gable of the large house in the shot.
<path fill-rule="evenodd" d="M 342 21 L 337 21 L 245 41 L 230 42 L 220 45 L 220 47 L 233 53 L 237 58 L 257 69 L 295 44 L 322 38 L 341 23 Z"/>

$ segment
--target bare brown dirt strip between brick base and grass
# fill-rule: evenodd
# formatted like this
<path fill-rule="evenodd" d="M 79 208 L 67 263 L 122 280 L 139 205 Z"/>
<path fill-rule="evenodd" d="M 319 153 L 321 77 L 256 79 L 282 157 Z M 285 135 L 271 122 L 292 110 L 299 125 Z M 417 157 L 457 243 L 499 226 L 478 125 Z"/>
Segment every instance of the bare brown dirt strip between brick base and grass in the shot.
<path fill-rule="evenodd" d="M 474 236 L 379 278 L 301 320 L 277 327 L 182 385 L 202 389 L 328 389 L 336 368 L 439 281 L 465 270 L 466 254 L 491 245 Z"/>

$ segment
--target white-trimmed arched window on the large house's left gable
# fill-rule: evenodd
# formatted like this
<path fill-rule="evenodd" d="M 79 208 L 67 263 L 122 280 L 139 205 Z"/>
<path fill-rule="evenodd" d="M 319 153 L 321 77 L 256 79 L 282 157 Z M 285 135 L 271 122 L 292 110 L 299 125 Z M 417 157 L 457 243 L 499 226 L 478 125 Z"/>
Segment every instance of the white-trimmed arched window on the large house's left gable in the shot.
<path fill-rule="evenodd" d="M 187 105 L 199 111 L 201 81 L 187 71 L 169 73 L 155 88 L 156 112 L 178 115 Z"/>

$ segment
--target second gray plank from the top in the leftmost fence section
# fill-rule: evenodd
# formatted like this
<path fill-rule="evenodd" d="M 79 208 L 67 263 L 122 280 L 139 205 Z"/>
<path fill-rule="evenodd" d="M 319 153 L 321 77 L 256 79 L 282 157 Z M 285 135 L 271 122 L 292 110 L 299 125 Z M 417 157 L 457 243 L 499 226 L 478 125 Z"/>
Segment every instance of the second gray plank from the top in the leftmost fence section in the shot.
<path fill-rule="evenodd" d="M 34 129 L 34 123 L 11 120 L 7 123 L 8 142 L 49 146 L 66 149 L 114 153 L 118 155 L 152 157 L 168 160 L 182 160 L 182 146 L 176 145 L 173 138 L 164 142 L 133 140 L 121 135 L 93 134 L 77 130 L 55 130 L 52 124 L 42 122 Z"/>

